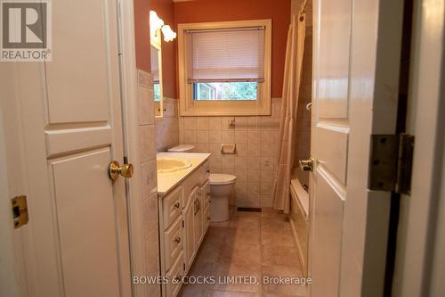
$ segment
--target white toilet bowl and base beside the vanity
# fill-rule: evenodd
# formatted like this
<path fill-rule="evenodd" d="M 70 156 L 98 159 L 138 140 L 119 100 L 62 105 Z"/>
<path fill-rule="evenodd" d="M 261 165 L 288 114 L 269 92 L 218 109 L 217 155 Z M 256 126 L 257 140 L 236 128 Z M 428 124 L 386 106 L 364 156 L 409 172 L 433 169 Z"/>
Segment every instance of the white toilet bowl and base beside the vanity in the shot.
<path fill-rule="evenodd" d="M 231 174 L 210 174 L 210 221 L 223 222 L 229 219 L 229 198 L 236 179 L 237 177 Z"/>

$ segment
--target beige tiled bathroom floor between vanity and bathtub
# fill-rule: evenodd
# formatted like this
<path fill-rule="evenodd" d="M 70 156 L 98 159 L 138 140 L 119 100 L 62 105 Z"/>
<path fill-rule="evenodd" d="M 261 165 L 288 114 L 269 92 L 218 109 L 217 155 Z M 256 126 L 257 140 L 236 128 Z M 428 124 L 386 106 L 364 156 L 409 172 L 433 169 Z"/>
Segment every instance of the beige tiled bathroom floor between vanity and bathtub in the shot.
<path fill-rule="evenodd" d="M 210 227 L 189 276 L 214 276 L 214 285 L 183 285 L 181 297 L 306 296 L 303 285 L 262 285 L 263 276 L 303 277 L 287 216 L 274 210 L 235 212 Z M 255 276 L 260 284 L 218 284 L 219 276 Z"/>

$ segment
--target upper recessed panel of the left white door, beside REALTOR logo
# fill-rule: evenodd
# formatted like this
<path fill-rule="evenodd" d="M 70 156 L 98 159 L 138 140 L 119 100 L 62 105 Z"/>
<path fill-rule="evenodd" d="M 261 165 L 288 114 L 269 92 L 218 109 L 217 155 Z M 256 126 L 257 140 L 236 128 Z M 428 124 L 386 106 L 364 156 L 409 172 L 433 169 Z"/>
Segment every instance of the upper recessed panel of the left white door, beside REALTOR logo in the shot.
<path fill-rule="evenodd" d="M 109 119 L 109 97 L 118 95 L 109 76 L 117 66 L 110 63 L 117 58 L 110 56 L 117 48 L 113 5 L 53 1 L 53 62 L 45 63 L 49 123 Z"/>

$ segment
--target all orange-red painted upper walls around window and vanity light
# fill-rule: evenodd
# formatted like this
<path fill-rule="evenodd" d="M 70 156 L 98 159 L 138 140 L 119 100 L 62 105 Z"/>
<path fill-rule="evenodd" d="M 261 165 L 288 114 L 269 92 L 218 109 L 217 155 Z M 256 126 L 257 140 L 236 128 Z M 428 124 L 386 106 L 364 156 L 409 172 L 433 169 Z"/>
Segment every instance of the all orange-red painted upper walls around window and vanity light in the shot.
<path fill-rule="evenodd" d="M 178 23 L 272 20 L 272 97 L 281 97 L 290 0 L 134 0 L 136 66 L 150 72 L 149 12 L 154 10 L 174 31 Z M 164 95 L 177 98 L 176 39 L 162 42 Z"/>

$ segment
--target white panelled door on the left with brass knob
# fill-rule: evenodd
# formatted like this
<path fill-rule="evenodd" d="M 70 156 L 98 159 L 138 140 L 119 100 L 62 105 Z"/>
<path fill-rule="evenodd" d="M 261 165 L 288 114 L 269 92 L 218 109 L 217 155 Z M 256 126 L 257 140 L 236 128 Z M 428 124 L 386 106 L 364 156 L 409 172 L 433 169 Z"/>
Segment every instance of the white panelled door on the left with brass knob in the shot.
<path fill-rule="evenodd" d="M 110 161 L 124 161 L 116 3 L 52 5 L 53 61 L 2 71 L 23 134 L 22 277 L 31 296 L 129 296 L 125 179 L 108 175 Z"/>

